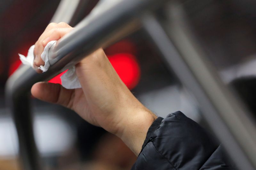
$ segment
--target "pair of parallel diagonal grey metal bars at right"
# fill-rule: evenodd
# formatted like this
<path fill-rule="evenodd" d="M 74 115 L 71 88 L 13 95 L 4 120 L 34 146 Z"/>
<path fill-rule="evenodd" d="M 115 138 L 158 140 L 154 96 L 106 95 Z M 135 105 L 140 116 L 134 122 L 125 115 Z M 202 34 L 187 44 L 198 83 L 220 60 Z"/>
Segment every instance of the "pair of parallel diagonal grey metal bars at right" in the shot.
<path fill-rule="evenodd" d="M 169 11 L 175 10 L 173 8 Z M 178 11 L 175 15 L 180 15 Z M 184 36 L 184 27 L 179 22 L 169 23 L 166 29 L 172 32 L 172 41 L 153 15 L 142 17 L 142 23 L 167 65 L 181 82 L 190 89 L 203 111 L 215 135 L 220 139 L 237 167 L 246 170 L 256 168 L 256 127 L 240 102 L 220 81 L 212 65 L 193 48 Z M 174 25 L 173 25 L 174 24 Z M 177 50 L 178 49 L 178 50 Z"/>

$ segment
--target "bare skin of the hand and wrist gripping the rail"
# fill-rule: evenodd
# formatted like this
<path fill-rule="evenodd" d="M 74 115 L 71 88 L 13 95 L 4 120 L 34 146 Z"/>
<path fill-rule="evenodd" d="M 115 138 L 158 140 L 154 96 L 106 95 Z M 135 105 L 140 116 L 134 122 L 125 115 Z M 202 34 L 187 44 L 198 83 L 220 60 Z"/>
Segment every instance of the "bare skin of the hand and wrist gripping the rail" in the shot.
<path fill-rule="evenodd" d="M 38 56 L 48 42 L 59 40 L 72 29 L 63 22 L 49 24 L 35 44 L 34 65 L 44 65 Z M 76 74 L 80 89 L 39 82 L 32 86 L 31 93 L 37 99 L 68 107 L 87 122 L 115 134 L 138 156 L 156 115 L 133 96 L 101 48 L 76 64 Z"/>

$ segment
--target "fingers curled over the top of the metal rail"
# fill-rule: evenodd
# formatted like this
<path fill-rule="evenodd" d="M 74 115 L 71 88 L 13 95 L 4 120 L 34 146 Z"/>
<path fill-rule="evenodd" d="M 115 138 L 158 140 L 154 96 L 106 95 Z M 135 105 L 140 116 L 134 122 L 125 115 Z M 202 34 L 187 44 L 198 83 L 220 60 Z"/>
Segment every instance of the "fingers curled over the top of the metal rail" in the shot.
<path fill-rule="evenodd" d="M 35 65 L 35 67 L 44 65 L 44 61 L 41 58 L 41 54 L 44 51 L 44 47 L 46 46 L 46 44 L 53 40 L 59 40 L 62 36 L 64 36 L 66 33 L 68 33 L 71 29 L 72 29 L 72 27 L 64 22 L 60 22 L 59 24 L 51 23 L 45 28 L 44 33 L 42 33 L 42 35 L 39 37 L 38 41 L 36 41 L 36 43 L 35 43 L 35 48 L 34 48 L 34 57 L 35 57 L 34 65 Z"/>

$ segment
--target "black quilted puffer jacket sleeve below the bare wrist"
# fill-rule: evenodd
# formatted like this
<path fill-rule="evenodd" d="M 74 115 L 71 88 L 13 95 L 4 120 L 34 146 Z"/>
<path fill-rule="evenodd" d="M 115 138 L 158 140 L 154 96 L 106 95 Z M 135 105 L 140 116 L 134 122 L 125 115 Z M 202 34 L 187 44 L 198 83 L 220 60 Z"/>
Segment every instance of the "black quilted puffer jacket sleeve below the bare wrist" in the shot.
<path fill-rule="evenodd" d="M 148 129 L 142 150 L 132 167 L 171 170 L 231 170 L 221 146 L 196 122 L 175 112 L 158 117 Z"/>

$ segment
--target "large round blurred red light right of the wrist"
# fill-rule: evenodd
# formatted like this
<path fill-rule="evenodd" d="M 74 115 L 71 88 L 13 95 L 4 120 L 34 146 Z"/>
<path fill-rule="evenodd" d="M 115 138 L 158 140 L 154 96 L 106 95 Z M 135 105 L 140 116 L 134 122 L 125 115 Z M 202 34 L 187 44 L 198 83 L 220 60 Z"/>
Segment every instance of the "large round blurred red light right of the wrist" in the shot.
<path fill-rule="evenodd" d="M 133 89 L 140 79 L 140 66 L 134 55 L 120 53 L 108 57 L 117 74 L 129 88 Z"/>

